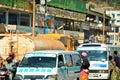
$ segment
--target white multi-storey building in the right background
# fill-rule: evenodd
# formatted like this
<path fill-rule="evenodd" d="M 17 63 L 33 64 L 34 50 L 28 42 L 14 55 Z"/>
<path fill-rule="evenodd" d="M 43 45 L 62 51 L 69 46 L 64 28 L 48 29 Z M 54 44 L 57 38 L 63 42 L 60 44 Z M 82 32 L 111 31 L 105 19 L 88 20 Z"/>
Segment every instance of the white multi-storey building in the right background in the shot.
<path fill-rule="evenodd" d="M 111 43 L 120 45 L 120 11 L 109 11 L 111 16 L 111 33 L 109 33 Z"/>

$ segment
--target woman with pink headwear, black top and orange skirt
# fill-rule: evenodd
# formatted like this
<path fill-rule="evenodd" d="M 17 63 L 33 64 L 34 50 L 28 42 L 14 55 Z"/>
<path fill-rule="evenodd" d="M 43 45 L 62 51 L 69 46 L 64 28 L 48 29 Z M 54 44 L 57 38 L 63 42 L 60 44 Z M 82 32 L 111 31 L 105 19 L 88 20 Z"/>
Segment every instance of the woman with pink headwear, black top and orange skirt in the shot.
<path fill-rule="evenodd" d="M 82 52 L 81 58 L 82 58 L 82 60 L 81 60 L 81 71 L 80 71 L 79 80 L 88 80 L 90 63 L 87 59 L 87 53 Z"/>

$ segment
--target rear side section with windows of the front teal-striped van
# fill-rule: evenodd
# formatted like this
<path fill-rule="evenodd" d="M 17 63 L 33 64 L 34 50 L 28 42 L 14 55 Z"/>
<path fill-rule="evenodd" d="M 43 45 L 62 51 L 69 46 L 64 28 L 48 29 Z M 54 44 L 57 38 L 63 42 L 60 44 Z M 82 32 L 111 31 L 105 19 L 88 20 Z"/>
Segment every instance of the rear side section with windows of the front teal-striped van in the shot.
<path fill-rule="evenodd" d="M 74 53 L 65 54 L 65 60 L 66 64 L 69 64 L 67 66 L 69 80 L 78 79 L 80 72 L 80 65 L 77 64 L 80 60 L 79 55 Z"/>

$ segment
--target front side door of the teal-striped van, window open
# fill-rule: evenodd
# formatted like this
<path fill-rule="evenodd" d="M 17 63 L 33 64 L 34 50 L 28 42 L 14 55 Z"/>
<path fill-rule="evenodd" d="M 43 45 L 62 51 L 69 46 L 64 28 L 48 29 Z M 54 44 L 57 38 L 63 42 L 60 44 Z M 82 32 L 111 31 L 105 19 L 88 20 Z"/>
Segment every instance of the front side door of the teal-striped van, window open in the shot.
<path fill-rule="evenodd" d="M 63 55 L 58 56 L 58 80 L 68 80 L 68 71 Z"/>

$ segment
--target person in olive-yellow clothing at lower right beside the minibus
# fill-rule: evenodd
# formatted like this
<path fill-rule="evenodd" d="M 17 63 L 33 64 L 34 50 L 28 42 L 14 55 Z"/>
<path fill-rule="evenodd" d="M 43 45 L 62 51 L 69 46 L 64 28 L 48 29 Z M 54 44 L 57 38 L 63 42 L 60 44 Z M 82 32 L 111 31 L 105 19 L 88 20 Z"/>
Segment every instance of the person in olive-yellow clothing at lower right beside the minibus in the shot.
<path fill-rule="evenodd" d="M 110 63 L 109 80 L 119 80 L 119 69 L 116 66 L 116 63 L 113 60 L 112 56 L 109 56 L 109 63 Z"/>

